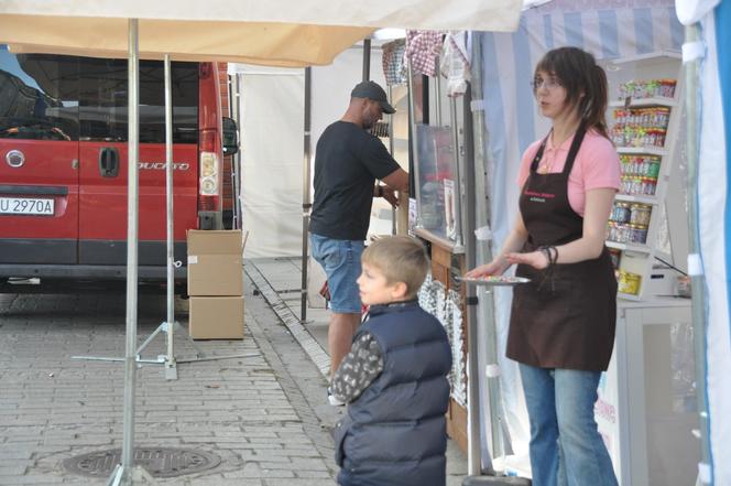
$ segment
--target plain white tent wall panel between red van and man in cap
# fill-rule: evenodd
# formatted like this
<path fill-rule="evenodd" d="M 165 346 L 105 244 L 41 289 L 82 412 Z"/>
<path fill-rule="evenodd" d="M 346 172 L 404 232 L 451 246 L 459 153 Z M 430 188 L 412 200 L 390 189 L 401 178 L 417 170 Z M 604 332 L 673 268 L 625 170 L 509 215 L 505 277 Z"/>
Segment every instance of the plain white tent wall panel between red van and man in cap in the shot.
<path fill-rule="evenodd" d="M 302 253 L 303 69 L 237 65 L 246 258 Z"/>

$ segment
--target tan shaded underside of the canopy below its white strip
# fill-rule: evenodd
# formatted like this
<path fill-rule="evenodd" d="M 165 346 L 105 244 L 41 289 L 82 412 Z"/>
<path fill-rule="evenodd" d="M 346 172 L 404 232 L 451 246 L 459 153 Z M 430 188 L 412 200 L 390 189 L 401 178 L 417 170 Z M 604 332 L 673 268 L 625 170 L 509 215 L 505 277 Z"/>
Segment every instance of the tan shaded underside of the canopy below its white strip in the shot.
<path fill-rule="evenodd" d="M 96 57 L 127 57 L 127 20 L 2 13 L 0 43 L 14 52 L 46 52 Z M 145 19 L 140 25 L 140 57 L 175 61 L 228 61 L 302 67 L 329 64 L 371 28 L 288 23 L 168 21 Z"/>

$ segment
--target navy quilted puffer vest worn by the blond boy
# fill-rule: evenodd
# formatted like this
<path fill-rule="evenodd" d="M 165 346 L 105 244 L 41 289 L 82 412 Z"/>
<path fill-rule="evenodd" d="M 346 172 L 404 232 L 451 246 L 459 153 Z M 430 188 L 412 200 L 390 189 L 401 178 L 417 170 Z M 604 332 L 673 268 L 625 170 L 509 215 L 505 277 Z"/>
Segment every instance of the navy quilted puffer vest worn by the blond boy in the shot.
<path fill-rule="evenodd" d="M 338 424 L 338 483 L 444 486 L 451 368 L 447 333 L 416 302 L 371 306 L 354 339 L 367 332 L 383 352 L 384 369 Z"/>

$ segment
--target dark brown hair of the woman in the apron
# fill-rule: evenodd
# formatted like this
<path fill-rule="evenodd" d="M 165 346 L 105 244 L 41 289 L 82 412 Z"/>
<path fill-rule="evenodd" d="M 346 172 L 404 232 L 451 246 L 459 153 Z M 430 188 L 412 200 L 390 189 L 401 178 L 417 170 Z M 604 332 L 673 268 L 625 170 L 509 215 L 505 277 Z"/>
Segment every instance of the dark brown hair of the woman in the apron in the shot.
<path fill-rule="evenodd" d="M 557 78 L 566 89 L 566 102 L 578 108 L 583 127 L 593 128 L 609 138 L 604 118 L 609 90 L 607 74 L 591 54 L 578 47 L 554 48 L 538 61 L 534 78 L 538 72 Z"/>

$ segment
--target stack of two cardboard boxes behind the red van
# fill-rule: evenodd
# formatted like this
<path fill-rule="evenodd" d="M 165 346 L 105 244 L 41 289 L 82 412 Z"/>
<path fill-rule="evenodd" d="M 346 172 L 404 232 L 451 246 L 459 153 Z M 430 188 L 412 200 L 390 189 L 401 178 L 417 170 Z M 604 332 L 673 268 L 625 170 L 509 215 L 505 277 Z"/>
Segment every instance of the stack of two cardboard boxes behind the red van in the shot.
<path fill-rule="evenodd" d="M 188 230 L 188 331 L 194 339 L 243 338 L 240 230 Z"/>

